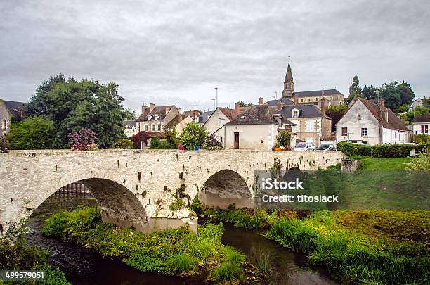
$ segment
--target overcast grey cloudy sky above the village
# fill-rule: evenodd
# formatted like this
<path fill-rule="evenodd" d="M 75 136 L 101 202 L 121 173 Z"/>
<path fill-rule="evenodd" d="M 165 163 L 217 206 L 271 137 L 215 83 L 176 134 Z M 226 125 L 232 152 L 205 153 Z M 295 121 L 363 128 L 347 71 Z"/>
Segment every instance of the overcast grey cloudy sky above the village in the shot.
<path fill-rule="evenodd" d="M 430 96 L 430 1 L 1 1 L 0 98 L 50 75 L 119 84 L 124 105 L 183 109 L 405 80 Z"/>

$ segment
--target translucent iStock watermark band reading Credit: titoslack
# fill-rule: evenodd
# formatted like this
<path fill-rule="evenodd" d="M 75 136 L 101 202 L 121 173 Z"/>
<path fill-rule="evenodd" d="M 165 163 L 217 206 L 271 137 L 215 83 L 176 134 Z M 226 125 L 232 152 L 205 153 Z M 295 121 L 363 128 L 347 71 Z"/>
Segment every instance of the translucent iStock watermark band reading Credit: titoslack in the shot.
<path fill-rule="evenodd" d="M 430 210 L 429 170 L 254 170 L 254 206 Z"/>

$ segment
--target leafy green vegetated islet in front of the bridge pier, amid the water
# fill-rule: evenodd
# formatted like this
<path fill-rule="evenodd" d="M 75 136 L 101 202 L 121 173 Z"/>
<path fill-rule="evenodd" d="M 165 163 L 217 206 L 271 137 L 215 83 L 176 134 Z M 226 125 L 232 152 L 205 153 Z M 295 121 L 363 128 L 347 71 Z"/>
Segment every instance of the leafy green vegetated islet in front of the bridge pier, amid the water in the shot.
<path fill-rule="evenodd" d="M 142 234 L 101 222 L 97 208 L 78 208 L 54 214 L 41 232 L 119 258 L 142 272 L 178 276 L 201 276 L 203 272 L 214 282 L 247 283 L 258 277 L 243 253 L 221 243 L 222 224 L 199 226 L 197 235 L 187 227 Z"/>

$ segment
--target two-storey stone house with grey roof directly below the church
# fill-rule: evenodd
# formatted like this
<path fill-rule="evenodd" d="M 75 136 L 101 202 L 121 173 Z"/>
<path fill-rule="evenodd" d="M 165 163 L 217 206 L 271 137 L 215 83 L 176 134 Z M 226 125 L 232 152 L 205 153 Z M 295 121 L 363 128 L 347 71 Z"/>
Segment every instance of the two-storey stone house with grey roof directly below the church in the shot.
<path fill-rule="evenodd" d="M 292 122 L 292 132 L 301 141 L 320 145 L 321 139 L 331 135 L 332 119 L 325 114 L 325 99 L 320 100 L 321 108 L 314 104 L 299 104 L 298 97 L 294 96 L 294 105 L 283 106 L 278 104 L 282 118 Z"/>

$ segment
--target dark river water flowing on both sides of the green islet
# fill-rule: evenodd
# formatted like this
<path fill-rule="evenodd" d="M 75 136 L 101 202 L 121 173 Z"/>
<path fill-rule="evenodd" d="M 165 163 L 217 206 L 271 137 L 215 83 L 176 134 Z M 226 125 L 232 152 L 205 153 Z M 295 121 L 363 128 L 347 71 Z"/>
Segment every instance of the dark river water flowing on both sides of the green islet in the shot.
<path fill-rule="evenodd" d="M 96 201 L 91 197 L 54 194 L 34 210 L 27 223 L 29 243 L 48 249 L 48 262 L 63 270 L 72 284 L 207 284 L 202 277 L 181 278 L 143 273 L 120 260 L 103 258 L 74 244 L 41 236 L 40 229 L 48 215 L 58 210 L 70 210 L 77 205 L 96 205 Z M 254 265 L 259 252 L 267 253 L 273 284 L 337 284 L 322 268 L 308 267 L 306 255 L 292 253 L 257 232 L 225 224 L 222 241 L 243 251 Z"/>

